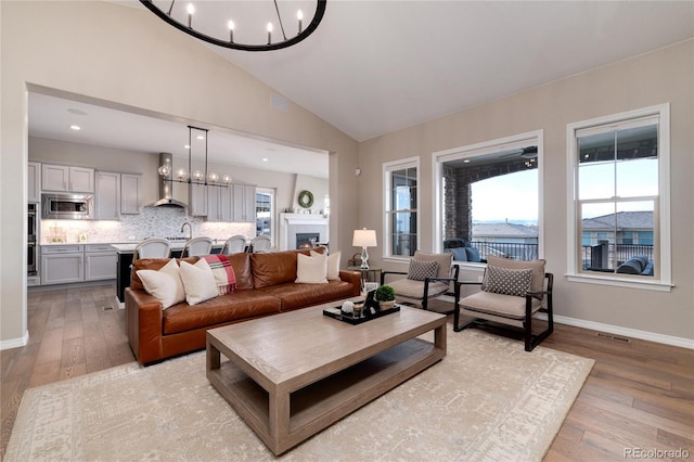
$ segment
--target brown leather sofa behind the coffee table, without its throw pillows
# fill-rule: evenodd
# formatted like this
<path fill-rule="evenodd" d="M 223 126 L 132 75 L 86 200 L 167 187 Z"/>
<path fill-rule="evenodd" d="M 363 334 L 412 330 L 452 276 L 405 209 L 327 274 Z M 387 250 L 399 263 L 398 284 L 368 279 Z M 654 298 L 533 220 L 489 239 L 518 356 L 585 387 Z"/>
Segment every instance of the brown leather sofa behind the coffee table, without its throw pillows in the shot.
<path fill-rule="evenodd" d="M 125 293 L 128 339 L 136 358 L 147 364 L 198 350 L 205 348 L 208 329 L 359 295 L 361 274 L 358 271 L 340 271 L 340 280 L 327 284 L 295 283 L 299 252 L 309 253 L 229 255 L 236 277 L 236 292 L 194 306 L 183 301 L 165 310 L 144 291 L 137 271 L 158 270 L 169 260 L 136 260 L 130 286 Z M 183 258 L 191 264 L 196 260 L 197 257 Z"/>

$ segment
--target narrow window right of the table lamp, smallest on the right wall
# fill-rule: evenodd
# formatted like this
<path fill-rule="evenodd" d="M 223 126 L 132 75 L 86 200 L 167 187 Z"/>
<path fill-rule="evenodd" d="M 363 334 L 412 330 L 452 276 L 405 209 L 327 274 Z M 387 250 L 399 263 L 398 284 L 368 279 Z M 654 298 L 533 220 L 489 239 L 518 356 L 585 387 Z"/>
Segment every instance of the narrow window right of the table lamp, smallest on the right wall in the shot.
<path fill-rule="evenodd" d="M 417 241 L 419 158 L 383 166 L 385 184 L 384 257 L 411 257 Z"/>

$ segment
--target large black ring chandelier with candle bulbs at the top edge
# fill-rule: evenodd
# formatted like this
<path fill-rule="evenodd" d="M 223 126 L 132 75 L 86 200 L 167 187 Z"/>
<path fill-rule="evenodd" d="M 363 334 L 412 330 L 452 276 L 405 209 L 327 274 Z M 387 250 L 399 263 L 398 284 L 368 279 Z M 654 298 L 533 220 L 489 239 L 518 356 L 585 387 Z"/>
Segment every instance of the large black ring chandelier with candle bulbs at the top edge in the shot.
<path fill-rule="evenodd" d="M 193 15 L 195 14 L 195 4 L 189 2 L 183 10 L 182 5 L 177 5 L 175 8 L 176 0 L 168 1 L 157 1 L 155 3 L 154 0 L 140 0 L 147 10 L 159 16 L 166 23 L 176 27 L 179 30 L 184 31 L 188 35 L 191 35 L 197 39 L 204 40 L 208 43 L 213 43 L 219 47 L 231 48 L 234 50 L 243 50 L 243 51 L 270 51 L 270 50 L 279 50 L 282 48 L 287 48 L 293 44 L 296 44 L 313 34 L 320 22 L 323 20 L 323 15 L 325 13 L 325 3 L 326 0 L 316 0 L 316 14 L 313 15 L 312 21 L 309 23 L 308 27 L 304 28 L 304 13 L 301 10 L 296 12 L 296 21 L 297 21 L 297 35 L 287 38 L 284 29 L 284 23 L 282 21 L 282 15 L 280 14 L 280 8 L 278 7 L 278 0 L 272 0 L 274 3 L 274 12 L 277 13 L 277 21 L 280 25 L 280 40 L 273 41 L 272 33 L 274 30 L 274 26 L 270 17 L 267 17 L 265 21 L 267 22 L 266 31 L 267 31 L 267 43 L 262 44 L 249 44 L 249 43 L 240 43 L 234 39 L 234 28 L 235 23 L 233 16 L 233 12 L 231 7 L 228 7 L 227 13 L 215 13 L 215 16 L 219 17 L 220 22 L 226 21 L 226 29 L 227 37 L 219 38 L 220 34 L 210 35 L 213 33 L 204 33 L 202 30 L 195 29 L 193 25 Z M 168 8 L 164 3 L 168 4 Z M 222 9 L 224 3 L 222 1 L 198 1 L 200 5 L 204 5 L 203 8 L 216 9 L 219 11 Z M 242 4 L 244 2 L 235 2 L 237 4 Z M 252 2 L 257 3 L 257 2 Z M 269 2 L 268 2 L 269 3 Z M 162 7 L 159 7 L 162 5 Z M 214 7 L 213 7 L 214 5 Z M 166 11 L 165 11 L 166 10 Z M 209 13 L 209 12 L 208 12 Z M 223 17 L 221 14 L 229 14 L 229 16 Z M 178 18 L 177 18 L 178 17 Z M 247 27 L 247 25 L 246 25 Z"/>

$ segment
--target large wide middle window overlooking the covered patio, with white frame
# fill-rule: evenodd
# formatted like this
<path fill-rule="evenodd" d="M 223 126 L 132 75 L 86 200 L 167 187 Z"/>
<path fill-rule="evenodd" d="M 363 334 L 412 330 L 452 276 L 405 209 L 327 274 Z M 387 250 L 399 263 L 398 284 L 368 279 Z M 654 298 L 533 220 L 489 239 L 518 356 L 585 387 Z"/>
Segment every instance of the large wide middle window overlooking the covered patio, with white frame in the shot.
<path fill-rule="evenodd" d="M 542 130 L 435 153 L 434 248 L 472 247 L 451 251 L 463 266 L 541 258 L 542 157 Z"/>

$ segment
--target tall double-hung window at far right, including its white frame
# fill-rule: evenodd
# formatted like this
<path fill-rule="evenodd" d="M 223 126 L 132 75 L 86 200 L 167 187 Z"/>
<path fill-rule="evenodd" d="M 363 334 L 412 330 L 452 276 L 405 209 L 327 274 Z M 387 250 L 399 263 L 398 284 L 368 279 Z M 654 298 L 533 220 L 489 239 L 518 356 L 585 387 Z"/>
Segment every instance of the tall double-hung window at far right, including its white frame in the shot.
<path fill-rule="evenodd" d="M 569 275 L 669 286 L 668 114 L 661 105 L 568 126 Z"/>

